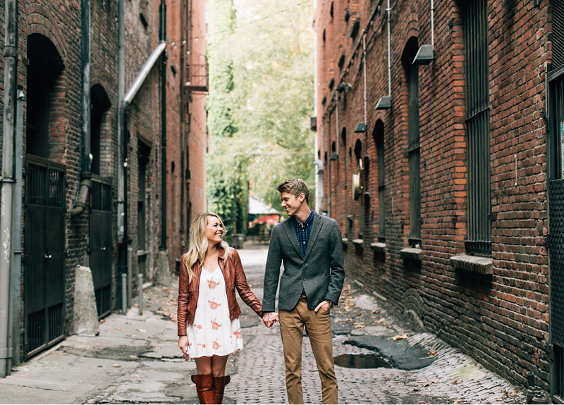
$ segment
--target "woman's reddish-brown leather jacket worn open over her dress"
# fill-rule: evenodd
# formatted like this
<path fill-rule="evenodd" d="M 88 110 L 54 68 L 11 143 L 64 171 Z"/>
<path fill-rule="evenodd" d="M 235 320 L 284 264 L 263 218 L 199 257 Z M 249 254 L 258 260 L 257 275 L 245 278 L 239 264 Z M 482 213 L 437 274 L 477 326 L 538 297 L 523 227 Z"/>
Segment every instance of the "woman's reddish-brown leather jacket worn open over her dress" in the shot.
<path fill-rule="evenodd" d="M 229 318 L 238 318 L 241 314 L 237 298 L 235 297 L 235 288 L 237 289 L 241 299 L 245 304 L 251 307 L 258 316 L 262 317 L 260 301 L 255 297 L 255 294 L 247 285 L 247 278 L 243 271 L 243 265 L 239 257 L 238 251 L 229 248 L 229 256 L 227 262 L 223 263 L 223 256 L 225 251 L 219 249 L 219 268 L 225 278 L 227 302 L 229 306 Z M 184 259 L 184 258 L 183 258 Z M 198 301 L 198 292 L 200 291 L 200 275 L 202 274 L 202 266 L 200 261 L 197 261 L 193 267 L 194 276 L 192 282 L 188 283 L 188 272 L 184 260 L 180 266 L 180 281 L 178 285 L 178 336 L 186 335 L 186 325 L 190 325 L 194 320 L 194 312 Z"/>

